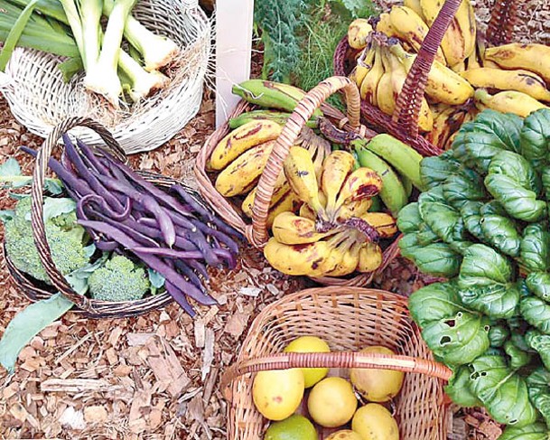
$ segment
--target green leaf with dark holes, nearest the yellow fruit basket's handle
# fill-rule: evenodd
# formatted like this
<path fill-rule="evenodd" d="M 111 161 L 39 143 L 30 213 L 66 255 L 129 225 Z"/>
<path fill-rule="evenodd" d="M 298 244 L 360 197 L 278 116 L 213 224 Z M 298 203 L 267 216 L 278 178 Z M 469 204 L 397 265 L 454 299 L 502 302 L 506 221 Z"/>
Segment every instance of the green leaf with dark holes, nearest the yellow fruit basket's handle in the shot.
<path fill-rule="evenodd" d="M 433 354 L 451 366 L 471 362 L 489 349 L 488 321 L 466 312 L 429 323 L 422 337 Z"/>

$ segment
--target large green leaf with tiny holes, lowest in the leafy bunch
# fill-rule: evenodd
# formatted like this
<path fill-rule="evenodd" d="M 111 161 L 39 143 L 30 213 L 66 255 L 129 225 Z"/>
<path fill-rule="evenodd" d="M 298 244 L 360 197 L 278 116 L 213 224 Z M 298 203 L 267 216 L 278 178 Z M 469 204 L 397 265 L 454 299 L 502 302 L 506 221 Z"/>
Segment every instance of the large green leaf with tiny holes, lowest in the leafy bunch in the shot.
<path fill-rule="evenodd" d="M 471 362 L 471 391 L 495 421 L 528 426 L 537 412 L 527 393 L 526 380 L 508 368 L 502 356 L 484 355 Z"/>

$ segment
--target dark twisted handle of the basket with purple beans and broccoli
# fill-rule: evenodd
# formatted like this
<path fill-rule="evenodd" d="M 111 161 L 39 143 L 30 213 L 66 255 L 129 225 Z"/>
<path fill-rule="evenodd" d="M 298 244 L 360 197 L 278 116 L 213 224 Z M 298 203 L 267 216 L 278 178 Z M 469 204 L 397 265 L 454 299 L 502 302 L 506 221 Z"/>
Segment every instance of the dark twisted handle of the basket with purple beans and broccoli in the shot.
<path fill-rule="evenodd" d="M 55 267 L 51 258 L 50 246 L 46 240 L 46 231 L 43 221 L 43 192 L 46 171 L 48 170 L 48 160 L 61 135 L 67 133 L 75 126 L 86 126 L 94 130 L 105 141 L 107 144 L 106 150 L 110 154 L 115 155 L 122 161 L 126 161 L 124 151 L 118 145 L 115 138 L 107 131 L 107 128 L 88 117 L 70 117 L 62 121 L 59 125 L 54 126 L 48 137 L 44 140 L 36 157 L 36 166 L 34 167 L 33 173 L 31 222 L 33 224 L 33 236 L 36 248 L 38 248 L 38 254 L 42 261 L 42 265 L 46 269 L 46 273 L 50 276 L 53 286 L 59 289 L 62 295 L 65 295 L 70 301 L 77 304 L 79 308 L 90 310 L 89 300 L 85 296 L 78 295 L 74 292 L 65 277 L 62 276 L 57 267 Z"/>

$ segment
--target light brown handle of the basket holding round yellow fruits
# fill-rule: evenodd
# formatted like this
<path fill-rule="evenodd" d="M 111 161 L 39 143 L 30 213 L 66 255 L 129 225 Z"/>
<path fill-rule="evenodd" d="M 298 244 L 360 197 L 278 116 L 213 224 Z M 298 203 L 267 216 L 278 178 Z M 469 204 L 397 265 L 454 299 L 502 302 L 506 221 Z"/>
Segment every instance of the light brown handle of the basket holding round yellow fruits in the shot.
<path fill-rule="evenodd" d="M 411 356 L 388 355 L 382 353 L 361 353 L 339 351 L 331 353 L 277 353 L 265 358 L 243 360 L 228 368 L 221 378 L 220 388 L 228 400 L 231 399 L 230 386 L 234 379 L 247 373 L 265 370 L 286 370 L 293 368 L 360 368 L 386 369 L 406 373 L 420 373 L 433 378 L 449 380 L 452 370 L 434 360 L 416 359 Z"/>

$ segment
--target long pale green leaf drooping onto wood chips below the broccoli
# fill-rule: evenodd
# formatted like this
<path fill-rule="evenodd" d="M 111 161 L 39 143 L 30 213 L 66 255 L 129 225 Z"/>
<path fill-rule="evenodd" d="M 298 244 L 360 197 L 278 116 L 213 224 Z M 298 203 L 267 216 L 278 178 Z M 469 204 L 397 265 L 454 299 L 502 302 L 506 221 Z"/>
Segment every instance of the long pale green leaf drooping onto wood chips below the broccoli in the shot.
<path fill-rule="evenodd" d="M 61 294 L 30 304 L 15 314 L 0 340 L 0 364 L 13 373 L 17 356 L 33 337 L 66 314 L 74 304 Z"/>

